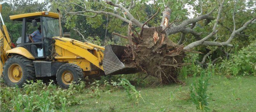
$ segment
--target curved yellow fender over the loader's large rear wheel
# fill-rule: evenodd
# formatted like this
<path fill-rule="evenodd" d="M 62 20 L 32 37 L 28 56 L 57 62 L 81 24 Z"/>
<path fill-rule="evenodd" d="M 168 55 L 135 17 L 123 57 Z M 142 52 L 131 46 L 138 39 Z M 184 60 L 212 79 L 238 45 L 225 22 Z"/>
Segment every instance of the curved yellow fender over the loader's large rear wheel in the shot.
<path fill-rule="evenodd" d="M 13 48 L 11 50 L 7 50 L 6 53 L 8 53 L 8 55 L 11 54 L 11 53 L 15 53 L 15 54 L 25 56 L 29 59 L 35 59 L 35 57 L 32 56 L 27 49 L 22 48 L 22 47 L 17 47 L 17 48 Z"/>

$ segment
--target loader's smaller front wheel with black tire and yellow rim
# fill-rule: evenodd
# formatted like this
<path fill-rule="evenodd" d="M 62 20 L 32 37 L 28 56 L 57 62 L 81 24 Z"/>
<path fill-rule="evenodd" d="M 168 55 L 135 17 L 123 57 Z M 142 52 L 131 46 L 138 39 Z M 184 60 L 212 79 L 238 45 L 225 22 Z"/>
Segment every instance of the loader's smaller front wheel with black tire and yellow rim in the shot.
<path fill-rule="evenodd" d="M 57 70 L 57 84 L 64 89 L 67 89 L 72 82 L 78 84 L 79 78 L 81 81 L 85 81 L 83 70 L 76 64 L 66 63 L 61 65 Z"/>

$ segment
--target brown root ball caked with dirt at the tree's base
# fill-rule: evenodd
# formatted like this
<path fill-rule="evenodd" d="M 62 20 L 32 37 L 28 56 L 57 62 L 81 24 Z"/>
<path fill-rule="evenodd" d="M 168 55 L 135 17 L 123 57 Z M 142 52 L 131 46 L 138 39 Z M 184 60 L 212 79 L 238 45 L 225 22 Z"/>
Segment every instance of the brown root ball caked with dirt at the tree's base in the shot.
<path fill-rule="evenodd" d="M 121 59 L 124 64 L 158 78 L 161 84 L 182 83 L 177 79 L 177 68 L 184 65 L 183 45 L 171 41 L 161 26 L 144 28 L 139 44 L 134 47 L 136 59 L 132 60 L 132 49 L 129 47 Z"/>

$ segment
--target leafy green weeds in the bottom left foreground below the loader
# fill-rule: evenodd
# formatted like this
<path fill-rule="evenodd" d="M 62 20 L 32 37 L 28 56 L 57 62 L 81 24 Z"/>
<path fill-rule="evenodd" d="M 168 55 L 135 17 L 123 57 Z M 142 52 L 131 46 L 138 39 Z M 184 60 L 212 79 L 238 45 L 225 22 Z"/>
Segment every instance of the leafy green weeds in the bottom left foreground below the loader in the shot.
<path fill-rule="evenodd" d="M 80 104 L 76 94 L 85 88 L 84 82 L 68 89 L 59 88 L 50 81 L 48 86 L 41 80 L 28 81 L 23 88 L 6 87 L 1 84 L 1 110 L 3 112 L 51 112 L 63 111 L 66 105 Z"/>

